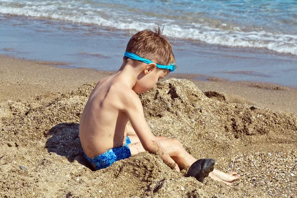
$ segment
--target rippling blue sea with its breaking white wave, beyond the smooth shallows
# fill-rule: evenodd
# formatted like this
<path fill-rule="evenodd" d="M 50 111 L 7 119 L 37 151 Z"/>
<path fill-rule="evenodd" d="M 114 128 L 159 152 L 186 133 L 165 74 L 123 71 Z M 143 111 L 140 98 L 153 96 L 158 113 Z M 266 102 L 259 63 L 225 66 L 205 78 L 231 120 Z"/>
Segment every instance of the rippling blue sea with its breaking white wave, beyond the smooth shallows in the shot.
<path fill-rule="evenodd" d="M 297 0 L 1 0 L 0 13 L 297 55 Z"/>

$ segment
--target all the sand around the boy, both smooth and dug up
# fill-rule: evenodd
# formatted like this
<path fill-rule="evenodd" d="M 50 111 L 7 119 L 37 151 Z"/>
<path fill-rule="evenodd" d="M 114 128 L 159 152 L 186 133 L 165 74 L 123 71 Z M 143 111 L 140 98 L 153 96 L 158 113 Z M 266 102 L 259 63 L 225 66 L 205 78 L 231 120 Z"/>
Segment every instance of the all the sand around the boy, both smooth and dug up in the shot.
<path fill-rule="evenodd" d="M 169 79 L 140 96 L 155 135 L 242 176 L 234 186 L 202 184 L 147 152 L 93 172 L 79 120 L 109 73 L 51 64 L 0 57 L 0 197 L 297 197 L 295 89 L 195 81 L 203 93 L 191 81 Z"/>

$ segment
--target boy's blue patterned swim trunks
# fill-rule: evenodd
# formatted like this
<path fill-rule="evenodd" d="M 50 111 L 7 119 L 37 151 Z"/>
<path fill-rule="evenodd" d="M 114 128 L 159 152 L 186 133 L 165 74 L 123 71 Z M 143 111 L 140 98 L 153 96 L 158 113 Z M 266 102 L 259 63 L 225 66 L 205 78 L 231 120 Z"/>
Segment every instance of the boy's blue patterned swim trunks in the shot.
<path fill-rule="evenodd" d="M 92 166 L 96 170 L 99 170 L 102 168 L 107 168 L 115 161 L 131 157 L 131 151 L 128 147 L 129 144 L 131 144 L 130 138 L 126 136 L 126 143 L 122 147 L 110 148 L 106 152 L 98 155 L 97 157 L 87 157 L 85 152 L 84 155 L 86 159 L 89 161 L 89 163 L 92 164 Z"/>

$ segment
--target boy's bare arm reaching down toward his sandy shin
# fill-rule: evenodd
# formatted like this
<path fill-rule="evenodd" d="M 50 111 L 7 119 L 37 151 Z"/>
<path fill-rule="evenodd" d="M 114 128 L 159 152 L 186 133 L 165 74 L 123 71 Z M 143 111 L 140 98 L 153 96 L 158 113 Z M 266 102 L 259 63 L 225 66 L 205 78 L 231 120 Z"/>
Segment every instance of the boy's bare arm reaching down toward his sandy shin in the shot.
<path fill-rule="evenodd" d="M 133 92 L 126 95 L 125 110 L 130 123 L 135 130 L 141 144 L 149 153 L 158 154 L 164 163 L 172 169 L 178 169 L 175 161 L 169 156 L 166 150 L 159 144 L 155 136 L 151 133 L 148 123 L 145 119 L 143 106 L 139 97 Z"/>

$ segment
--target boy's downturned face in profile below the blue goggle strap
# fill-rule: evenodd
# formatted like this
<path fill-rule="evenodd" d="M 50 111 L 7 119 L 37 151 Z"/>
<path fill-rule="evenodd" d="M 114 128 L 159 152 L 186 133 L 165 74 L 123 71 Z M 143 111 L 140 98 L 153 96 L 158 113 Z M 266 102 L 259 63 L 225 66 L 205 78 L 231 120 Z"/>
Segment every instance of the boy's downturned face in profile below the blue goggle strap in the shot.
<path fill-rule="evenodd" d="M 145 72 L 145 71 L 144 71 Z M 139 77 L 138 81 L 136 82 L 135 86 L 132 88 L 134 92 L 137 94 L 147 92 L 151 90 L 157 83 L 159 79 L 164 78 L 169 74 L 168 69 L 157 69 L 154 68 L 150 72 L 148 72 Z"/>

